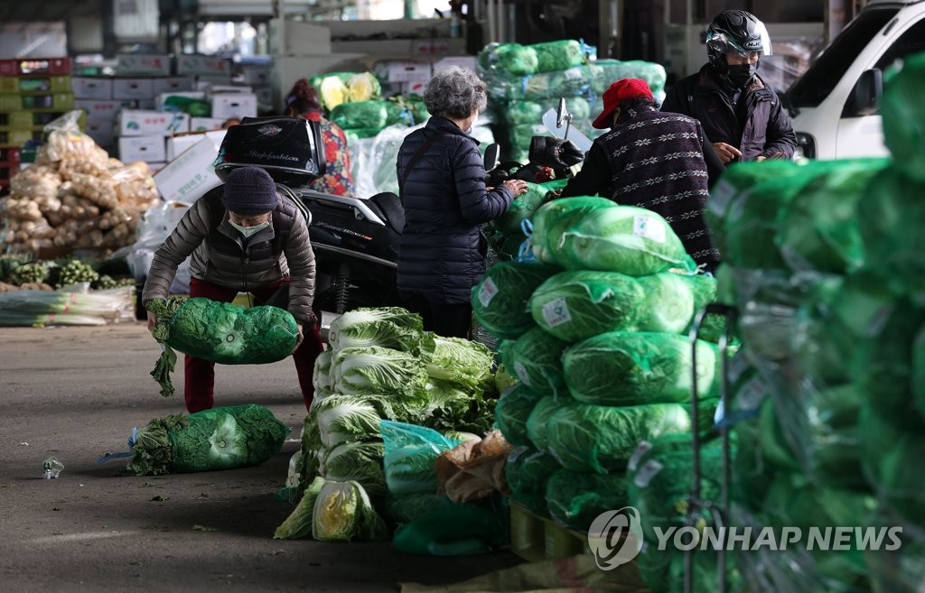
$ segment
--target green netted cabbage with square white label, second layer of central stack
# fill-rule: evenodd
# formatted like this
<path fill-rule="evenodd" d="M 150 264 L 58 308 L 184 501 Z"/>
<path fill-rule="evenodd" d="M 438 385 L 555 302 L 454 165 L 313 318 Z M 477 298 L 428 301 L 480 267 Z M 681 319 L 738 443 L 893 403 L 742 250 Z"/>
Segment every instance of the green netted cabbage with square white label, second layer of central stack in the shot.
<path fill-rule="evenodd" d="M 530 297 L 536 325 L 574 343 L 598 333 L 635 330 L 648 295 L 633 276 L 620 272 L 560 272 L 540 284 Z"/>

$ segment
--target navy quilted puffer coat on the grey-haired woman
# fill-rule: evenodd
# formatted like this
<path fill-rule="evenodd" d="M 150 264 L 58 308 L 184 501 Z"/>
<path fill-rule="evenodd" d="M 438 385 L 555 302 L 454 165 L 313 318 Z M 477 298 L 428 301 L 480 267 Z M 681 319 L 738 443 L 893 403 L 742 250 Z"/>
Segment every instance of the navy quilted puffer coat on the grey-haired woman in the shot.
<path fill-rule="evenodd" d="M 409 170 L 414 154 L 435 134 Z M 433 303 L 468 303 L 486 268 L 488 244 L 480 224 L 507 212 L 511 190 L 487 191 L 478 142 L 443 117 L 431 117 L 404 139 L 396 166 L 405 212 L 399 289 Z"/>

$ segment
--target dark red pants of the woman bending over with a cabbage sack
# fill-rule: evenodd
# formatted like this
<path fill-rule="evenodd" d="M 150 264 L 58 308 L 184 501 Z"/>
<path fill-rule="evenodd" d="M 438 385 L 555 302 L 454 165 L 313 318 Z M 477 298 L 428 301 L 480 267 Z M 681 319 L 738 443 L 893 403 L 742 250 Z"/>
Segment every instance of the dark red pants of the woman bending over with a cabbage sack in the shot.
<path fill-rule="evenodd" d="M 273 295 L 279 284 L 283 282 L 285 281 L 253 288 L 251 292 L 253 296 L 263 301 Z M 235 296 L 238 296 L 238 291 L 233 288 L 222 288 L 198 278 L 191 278 L 190 296 L 203 296 L 211 300 L 230 303 Z M 312 397 L 314 396 L 314 386 L 312 385 L 314 359 L 321 353 L 323 345 L 317 324 L 312 327 L 302 327 L 302 333 L 305 336 L 302 340 L 302 345 L 299 345 L 299 349 L 292 354 L 292 359 L 295 361 L 295 369 L 299 374 L 299 386 L 302 388 L 305 408 L 308 409 L 308 406 L 312 405 Z M 184 368 L 186 369 L 184 397 L 186 398 L 186 409 L 190 414 L 200 410 L 207 410 L 215 405 L 213 394 L 216 382 L 215 367 L 216 363 L 214 362 L 187 355 L 184 361 Z"/>

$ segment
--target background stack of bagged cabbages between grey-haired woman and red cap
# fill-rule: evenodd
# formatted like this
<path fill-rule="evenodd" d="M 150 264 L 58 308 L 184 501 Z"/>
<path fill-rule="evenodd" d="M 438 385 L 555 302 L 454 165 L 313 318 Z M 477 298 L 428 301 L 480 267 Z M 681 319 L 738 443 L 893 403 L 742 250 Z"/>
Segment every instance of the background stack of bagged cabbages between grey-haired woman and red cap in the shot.
<path fill-rule="evenodd" d="M 657 97 L 664 96 L 665 69 L 643 61 L 593 61 L 594 48 L 563 40 L 534 43 L 489 43 L 479 54 L 477 70 L 487 83 L 489 112 L 508 130 L 510 158 L 525 161 L 534 136 L 549 136 L 543 114 L 567 100 L 573 125 L 586 134 L 601 110 L 600 95 L 619 79 L 648 81 Z M 592 61 L 589 61 L 589 57 Z"/>

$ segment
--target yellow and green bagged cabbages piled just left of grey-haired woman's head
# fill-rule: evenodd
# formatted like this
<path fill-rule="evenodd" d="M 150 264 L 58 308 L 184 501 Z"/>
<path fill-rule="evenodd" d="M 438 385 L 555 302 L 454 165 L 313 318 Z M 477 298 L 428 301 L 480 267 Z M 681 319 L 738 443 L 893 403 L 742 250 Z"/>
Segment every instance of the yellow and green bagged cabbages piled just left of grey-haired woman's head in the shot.
<path fill-rule="evenodd" d="M 343 128 L 348 140 L 372 138 L 385 127 L 413 126 L 427 112 L 417 97 L 382 97 L 372 72 L 332 72 L 311 79 L 327 118 Z"/>

